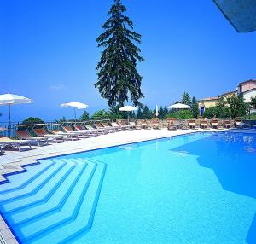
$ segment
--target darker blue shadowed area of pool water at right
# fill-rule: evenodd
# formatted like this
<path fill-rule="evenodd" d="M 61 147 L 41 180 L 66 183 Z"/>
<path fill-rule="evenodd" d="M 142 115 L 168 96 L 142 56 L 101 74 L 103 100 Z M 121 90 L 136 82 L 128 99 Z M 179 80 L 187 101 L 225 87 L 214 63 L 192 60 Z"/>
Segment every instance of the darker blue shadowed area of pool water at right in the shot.
<path fill-rule="evenodd" d="M 218 133 L 172 149 L 197 155 L 200 166 L 211 168 L 223 189 L 256 199 L 256 135 Z M 256 214 L 247 233 L 256 243 Z"/>

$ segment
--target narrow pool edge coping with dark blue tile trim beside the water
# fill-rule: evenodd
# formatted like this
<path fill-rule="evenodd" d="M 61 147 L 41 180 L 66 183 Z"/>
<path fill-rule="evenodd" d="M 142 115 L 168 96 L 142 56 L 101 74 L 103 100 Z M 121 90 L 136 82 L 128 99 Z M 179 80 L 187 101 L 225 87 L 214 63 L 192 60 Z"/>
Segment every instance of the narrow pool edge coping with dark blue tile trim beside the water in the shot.
<path fill-rule="evenodd" d="M 9 163 L 9 165 L 14 166 L 14 168 L 16 167 L 17 171 L 13 170 L 13 171 L 8 171 L 6 173 L 1 173 L 0 174 L 0 184 L 2 183 L 8 183 L 9 180 L 6 178 L 6 176 L 9 175 L 14 175 L 14 174 L 18 174 L 18 173 L 22 173 L 24 171 L 26 171 L 26 166 L 32 166 L 32 165 L 36 165 L 39 164 L 39 160 L 46 160 L 46 159 L 50 159 L 50 158 L 54 158 L 54 157 L 61 157 L 63 155 L 68 155 L 68 154 L 79 154 L 79 153 L 84 153 L 84 152 L 90 152 L 90 151 L 94 151 L 94 150 L 99 150 L 99 149 L 104 149 L 104 148 L 114 148 L 114 147 L 118 147 L 118 146 L 123 146 L 123 145 L 128 145 L 128 144 L 132 144 L 132 143 L 136 143 L 136 142 L 148 142 L 148 141 L 153 141 L 153 140 L 157 140 L 157 139 L 164 139 L 164 138 L 169 138 L 169 137 L 178 137 L 178 136 L 184 136 L 184 135 L 189 135 L 189 134 L 194 134 L 194 133 L 205 133 L 205 132 L 235 132 L 235 133 L 256 133 L 256 131 L 252 131 L 252 130 L 230 130 L 230 129 L 224 129 L 224 130 L 189 130 L 189 131 L 184 131 L 184 130 L 180 130 L 179 134 L 175 134 L 175 135 L 162 135 L 162 136 L 158 136 L 158 137 L 143 137 L 143 138 L 136 138 L 134 140 L 126 140 L 125 142 L 121 141 L 121 142 L 113 142 L 110 143 L 108 145 L 103 145 L 99 144 L 96 145 L 92 148 L 75 148 L 72 150 L 69 150 L 65 153 L 61 152 L 61 153 L 48 153 L 48 154 L 42 154 L 45 155 L 42 158 L 39 158 L 39 156 L 41 154 L 38 154 L 36 156 L 27 156 L 22 158 L 22 160 L 17 160 L 15 162 Z M 25 162 L 25 160 L 29 160 L 29 162 Z M 4 220 L 3 218 L 3 214 L 2 212 L 0 212 L 0 244 L 14 244 L 14 243 L 20 243 L 20 241 L 18 240 L 18 238 L 15 237 L 14 235 L 14 231 L 12 230 L 11 226 L 9 226 L 9 224 L 7 224 L 7 222 Z"/>

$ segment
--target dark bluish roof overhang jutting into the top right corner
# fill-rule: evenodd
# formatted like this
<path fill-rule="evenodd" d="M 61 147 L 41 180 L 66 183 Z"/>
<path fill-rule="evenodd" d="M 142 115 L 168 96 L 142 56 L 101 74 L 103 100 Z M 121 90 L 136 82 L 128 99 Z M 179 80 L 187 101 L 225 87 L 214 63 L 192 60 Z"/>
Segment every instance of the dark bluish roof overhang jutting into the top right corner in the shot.
<path fill-rule="evenodd" d="M 256 30 L 255 0 L 213 0 L 237 32 Z"/>

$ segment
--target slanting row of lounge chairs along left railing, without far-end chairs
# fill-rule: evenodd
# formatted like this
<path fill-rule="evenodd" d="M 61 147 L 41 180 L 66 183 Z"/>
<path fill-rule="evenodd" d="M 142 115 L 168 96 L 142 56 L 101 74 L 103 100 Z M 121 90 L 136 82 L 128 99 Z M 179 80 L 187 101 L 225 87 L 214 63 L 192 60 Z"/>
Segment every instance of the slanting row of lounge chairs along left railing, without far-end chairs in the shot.
<path fill-rule="evenodd" d="M 20 125 L 15 131 L 18 139 L 0 137 L 0 154 L 4 153 L 4 148 L 18 148 L 20 151 L 21 146 L 28 146 L 31 149 L 32 144 L 43 146 L 49 144 L 49 142 L 74 141 L 80 138 L 96 137 L 116 131 L 138 129 L 134 121 L 127 125 L 125 120 L 110 124 L 108 122 L 96 122 L 93 125 L 84 125 L 83 123 L 55 125 L 55 129 L 48 129 L 45 124 Z"/>

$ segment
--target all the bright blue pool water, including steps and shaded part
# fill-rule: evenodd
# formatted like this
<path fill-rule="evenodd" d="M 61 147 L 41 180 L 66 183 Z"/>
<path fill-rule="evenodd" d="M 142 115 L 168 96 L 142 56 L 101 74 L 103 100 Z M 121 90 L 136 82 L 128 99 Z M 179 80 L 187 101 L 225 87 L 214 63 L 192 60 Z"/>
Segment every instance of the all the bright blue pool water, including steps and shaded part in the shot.
<path fill-rule="evenodd" d="M 21 243 L 256 243 L 256 135 L 195 133 L 69 154 L 0 185 Z"/>

